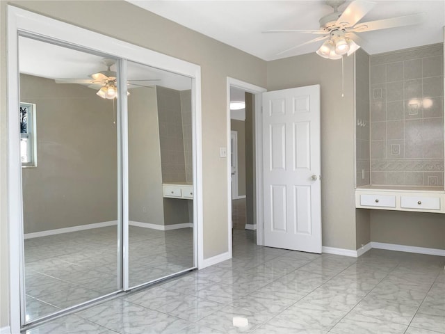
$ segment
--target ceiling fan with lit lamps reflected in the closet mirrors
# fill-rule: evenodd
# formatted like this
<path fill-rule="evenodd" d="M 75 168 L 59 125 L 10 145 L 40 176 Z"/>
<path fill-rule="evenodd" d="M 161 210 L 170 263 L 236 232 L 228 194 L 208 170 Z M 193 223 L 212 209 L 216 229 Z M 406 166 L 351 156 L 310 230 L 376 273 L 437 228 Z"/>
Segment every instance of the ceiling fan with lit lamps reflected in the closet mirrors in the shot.
<path fill-rule="evenodd" d="M 111 70 L 111 66 L 115 64 L 114 59 L 105 58 L 104 64 L 107 69 L 104 71 L 99 71 L 97 73 L 90 74 L 90 79 L 54 79 L 56 84 L 82 84 L 88 85 L 89 88 L 99 88 L 97 95 L 104 99 L 114 99 L 118 95 L 118 87 L 116 84 L 117 75 L 115 71 Z M 148 81 L 160 81 L 160 79 L 136 79 L 127 80 L 128 86 L 138 86 L 138 87 L 150 87 L 144 85 Z M 138 84 L 136 84 L 138 82 Z M 129 93 L 127 92 L 127 95 Z"/>

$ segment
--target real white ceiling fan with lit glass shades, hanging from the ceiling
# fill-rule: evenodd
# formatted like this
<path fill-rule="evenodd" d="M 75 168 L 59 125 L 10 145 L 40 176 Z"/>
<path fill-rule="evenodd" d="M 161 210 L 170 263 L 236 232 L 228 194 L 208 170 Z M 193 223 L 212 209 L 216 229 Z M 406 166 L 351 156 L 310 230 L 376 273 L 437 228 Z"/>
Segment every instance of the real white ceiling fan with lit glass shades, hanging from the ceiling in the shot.
<path fill-rule="evenodd" d="M 319 30 L 269 30 L 264 31 L 264 33 L 299 32 L 320 35 L 313 40 L 308 40 L 300 45 L 281 51 L 278 55 L 301 47 L 302 45 L 325 40 L 316 53 L 323 58 L 340 59 L 344 54 L 349 56 L 359 49 L 359 45 L 357 45 L 356 42 L 359 42 L 360 38 L 357 33 L 419 24 L 423 22 L 426 17 L 425 13 L 418 13 L 414 15 L 358 23 L 376 3 L 365 0 L 355 0 L 352 1 L 343 12 L 339 12 L 338 8 L 343 3 L 345 3 L 345 0 L 326 0 L 326 4 L 334 9 L 334 13 L 321 17 L 319 20 Z"/>

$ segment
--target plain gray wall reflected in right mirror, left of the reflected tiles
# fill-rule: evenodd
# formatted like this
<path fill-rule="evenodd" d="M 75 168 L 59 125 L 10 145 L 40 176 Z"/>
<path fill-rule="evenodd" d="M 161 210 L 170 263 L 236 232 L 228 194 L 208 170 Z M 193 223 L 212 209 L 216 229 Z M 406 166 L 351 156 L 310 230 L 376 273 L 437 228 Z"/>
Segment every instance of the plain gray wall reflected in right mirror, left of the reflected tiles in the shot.
<path fill-rule="evenodd" d="M 156 88 L 128 97 L 129 220 L 164 225 Z"/>

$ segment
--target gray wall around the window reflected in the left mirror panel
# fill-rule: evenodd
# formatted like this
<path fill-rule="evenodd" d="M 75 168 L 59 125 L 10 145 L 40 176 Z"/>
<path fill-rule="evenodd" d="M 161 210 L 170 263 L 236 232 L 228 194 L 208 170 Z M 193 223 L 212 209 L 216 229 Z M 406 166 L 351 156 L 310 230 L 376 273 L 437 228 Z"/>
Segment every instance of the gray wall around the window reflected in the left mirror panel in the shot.
<path fill-rule="evenodd" d="M 24 232 L 117 220 L 118 157 L 113 102 L 95 90 L 20 76 L 36 104 L 37 168 L 22 168 Z"/>

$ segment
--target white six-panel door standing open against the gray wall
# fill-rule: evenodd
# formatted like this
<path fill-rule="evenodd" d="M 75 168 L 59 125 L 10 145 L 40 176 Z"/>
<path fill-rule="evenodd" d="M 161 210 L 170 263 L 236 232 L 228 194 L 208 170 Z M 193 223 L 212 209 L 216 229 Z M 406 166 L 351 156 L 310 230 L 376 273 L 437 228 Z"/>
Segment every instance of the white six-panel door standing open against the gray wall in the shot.
<path fill-rule="evenodd" d="M 264 245 L 321 253 L 320 86 L 263 93 Z"/>

